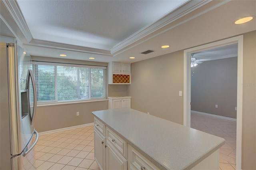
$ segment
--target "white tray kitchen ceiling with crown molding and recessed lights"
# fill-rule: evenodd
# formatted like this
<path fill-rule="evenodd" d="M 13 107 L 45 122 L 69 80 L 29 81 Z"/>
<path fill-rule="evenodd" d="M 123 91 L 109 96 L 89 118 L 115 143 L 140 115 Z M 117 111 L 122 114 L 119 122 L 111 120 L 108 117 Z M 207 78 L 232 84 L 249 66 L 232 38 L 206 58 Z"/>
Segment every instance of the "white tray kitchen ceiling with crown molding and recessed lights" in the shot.
<path fill-rule="evenodd" d="M 13 34 L 30 55 L 44 57 L 65 53 L 68 59 L 132 63 L 256 30 L 255 18 L 234 24 L 243 16 L 256 16 L 256 1 L 251 0 L 0 3 L 1 35 Z M 162 45 L 170 47 L 161 49 Z M 154 52 L 141 54 L 148 49 Z M 226 56 L 233 53 L 226 51 Z"/>

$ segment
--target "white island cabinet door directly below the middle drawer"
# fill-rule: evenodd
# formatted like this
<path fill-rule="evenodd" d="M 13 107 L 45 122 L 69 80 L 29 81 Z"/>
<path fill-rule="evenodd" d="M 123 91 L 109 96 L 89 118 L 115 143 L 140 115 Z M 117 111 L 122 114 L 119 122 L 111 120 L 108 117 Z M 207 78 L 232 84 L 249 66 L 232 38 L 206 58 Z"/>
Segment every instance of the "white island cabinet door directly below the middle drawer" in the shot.
<path fill-rule="evenodd" d="M 127 170 L 127 160 L 110 144 L 106 147 L 106 170 Z"/>

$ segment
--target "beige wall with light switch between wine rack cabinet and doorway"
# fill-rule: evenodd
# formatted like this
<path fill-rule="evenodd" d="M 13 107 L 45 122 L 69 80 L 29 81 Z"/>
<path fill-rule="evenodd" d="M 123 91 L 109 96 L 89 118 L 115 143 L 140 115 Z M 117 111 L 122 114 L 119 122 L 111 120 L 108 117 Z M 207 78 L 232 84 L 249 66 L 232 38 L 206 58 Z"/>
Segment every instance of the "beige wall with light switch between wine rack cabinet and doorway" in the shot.
<path fill-rule="evenodd" d="M 183 51 L 132 63 L 131 71 L 132 109 L 183 124 Z"/>

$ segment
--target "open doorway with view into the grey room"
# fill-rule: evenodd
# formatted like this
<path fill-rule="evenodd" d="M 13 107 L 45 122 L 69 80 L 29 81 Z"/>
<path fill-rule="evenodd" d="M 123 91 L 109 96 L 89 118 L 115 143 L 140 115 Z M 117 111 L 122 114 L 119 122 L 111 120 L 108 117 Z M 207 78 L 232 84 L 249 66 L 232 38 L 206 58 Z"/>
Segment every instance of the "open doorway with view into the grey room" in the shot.
<path fill-rule="evenodd" d="M 226 140 L 220 169 L 236 168 L 237 43 L 191 55 L 191 128 Z"/>

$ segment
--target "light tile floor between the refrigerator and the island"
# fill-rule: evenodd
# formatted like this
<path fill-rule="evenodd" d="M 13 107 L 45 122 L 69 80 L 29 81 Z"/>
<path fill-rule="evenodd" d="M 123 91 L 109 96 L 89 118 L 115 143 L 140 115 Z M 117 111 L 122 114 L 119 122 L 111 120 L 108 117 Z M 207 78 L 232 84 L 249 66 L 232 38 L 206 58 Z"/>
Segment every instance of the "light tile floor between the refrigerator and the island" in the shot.
<path fill-rule="evenodd" d="M 36 170 L 99 170 L 94 160 L 94 126 L 40 135 Z"/>

